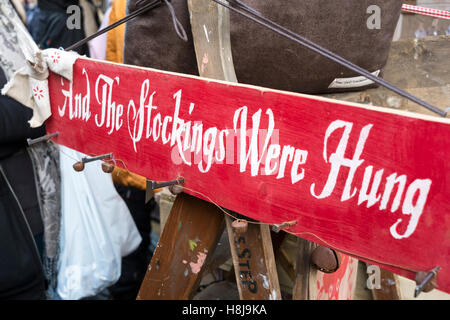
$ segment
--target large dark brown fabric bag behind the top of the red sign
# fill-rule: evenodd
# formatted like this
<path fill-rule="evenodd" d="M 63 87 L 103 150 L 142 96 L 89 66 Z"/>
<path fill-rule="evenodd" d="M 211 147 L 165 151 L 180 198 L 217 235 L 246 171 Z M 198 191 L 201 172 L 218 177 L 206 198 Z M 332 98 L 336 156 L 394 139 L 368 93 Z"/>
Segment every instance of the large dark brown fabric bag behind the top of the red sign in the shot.
<path fill-rule="evenodd" d="M 382 74 L 400 16 L 400 0 L 243 0 L 264 16 L 370 72 Z M 129 1 L 135 10 L 136 0 Z M 198 74 L 185 0 L 172 1 L 189 42 L 180 40 L 165 5 L 127 24 L 125 63 Z M 369 29 L 371 5 L 380 29 Z M 323 93 L 365 89 L 365 78 L 303 46 L 231 13 L 231 44 L 238 81 L 268 88 Z M 354 78 L 356 77 L 356 78 Z M 351 78 L 351 79 L 349 79 Z"/>

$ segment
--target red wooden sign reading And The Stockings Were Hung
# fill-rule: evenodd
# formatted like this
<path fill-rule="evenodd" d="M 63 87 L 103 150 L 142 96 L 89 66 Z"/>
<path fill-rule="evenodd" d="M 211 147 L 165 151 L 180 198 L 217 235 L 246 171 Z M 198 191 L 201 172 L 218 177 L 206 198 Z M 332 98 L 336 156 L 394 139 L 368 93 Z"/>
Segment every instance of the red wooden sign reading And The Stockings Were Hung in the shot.
<path fill-rule="evenodd" d="M 90 59 L 49 86 L 56 142 L 450 292 L 449 119 Z"/>

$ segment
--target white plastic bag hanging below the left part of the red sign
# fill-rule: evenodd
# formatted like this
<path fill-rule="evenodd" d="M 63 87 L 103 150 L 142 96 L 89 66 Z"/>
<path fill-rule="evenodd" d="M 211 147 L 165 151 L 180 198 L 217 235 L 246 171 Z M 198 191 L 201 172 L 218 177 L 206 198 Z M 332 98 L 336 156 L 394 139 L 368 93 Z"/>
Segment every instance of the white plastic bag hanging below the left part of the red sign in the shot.
<path fill-rule="evenodd" d="M 73 164 L 85 155 L 60 146 L 61 234 L 57 293 L 64 300 L 99 293 L 120 277 L 121 257 L 142 238 L 101 161 Z M 77 159 L 77 160 L 75 160 Z"/>

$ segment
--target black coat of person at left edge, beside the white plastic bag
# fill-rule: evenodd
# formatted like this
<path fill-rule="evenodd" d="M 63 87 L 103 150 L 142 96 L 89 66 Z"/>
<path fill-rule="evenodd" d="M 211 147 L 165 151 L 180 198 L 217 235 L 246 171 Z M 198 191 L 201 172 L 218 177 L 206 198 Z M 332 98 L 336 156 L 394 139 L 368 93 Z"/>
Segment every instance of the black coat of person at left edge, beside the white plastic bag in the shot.
<path fill-rule="evenodd" d="M 31 116 L 31 109 L 0 95 L 0 300 L 45 298 L 43 223 L 26 150 L 26 139 L 45 129 L 31 129 Z"/>

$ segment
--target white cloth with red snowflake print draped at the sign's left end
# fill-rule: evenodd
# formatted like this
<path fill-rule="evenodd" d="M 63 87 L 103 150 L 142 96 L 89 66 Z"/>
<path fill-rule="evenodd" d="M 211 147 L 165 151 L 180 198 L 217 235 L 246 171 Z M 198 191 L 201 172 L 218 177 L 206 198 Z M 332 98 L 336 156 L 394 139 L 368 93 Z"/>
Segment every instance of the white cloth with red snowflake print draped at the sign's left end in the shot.
<path fill-rule="evenodd" d="M 72 82 L 73 65 L 79 55 L 74 51 L 39 50 L 8 1 L 0 0 L 0 30 L 5 43 L 16 44 L 11 52 L 11 48 L 4 50 L 5 44 L 0 41 L 0 67 L 6 70 L 8 78 L 1 93 L 31 108 L 33 116 L 28 122 L 32 128 L 40 127 L 52 115 L 49 70 Z M 13 70 L 16 71 L 11 75 Z"/>

